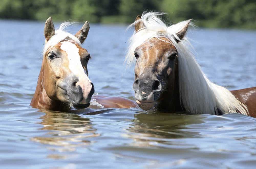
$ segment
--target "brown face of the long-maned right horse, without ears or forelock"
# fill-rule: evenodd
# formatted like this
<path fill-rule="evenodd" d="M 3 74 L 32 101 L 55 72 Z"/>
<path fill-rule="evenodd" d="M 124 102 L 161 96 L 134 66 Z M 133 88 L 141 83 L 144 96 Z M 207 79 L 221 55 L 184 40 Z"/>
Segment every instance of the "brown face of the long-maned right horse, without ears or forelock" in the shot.
<path fill-rule="evenodd" d="M 167 41 L 165 38 L 162 40 Z M 133 90 L 136 103 L 143 110 L 151 109 L 161 98 L 162 91 L 174 84 L 178 53 L 173 44 L 162 40 L 152 38 L 134 51 L 136 65 Z"/>

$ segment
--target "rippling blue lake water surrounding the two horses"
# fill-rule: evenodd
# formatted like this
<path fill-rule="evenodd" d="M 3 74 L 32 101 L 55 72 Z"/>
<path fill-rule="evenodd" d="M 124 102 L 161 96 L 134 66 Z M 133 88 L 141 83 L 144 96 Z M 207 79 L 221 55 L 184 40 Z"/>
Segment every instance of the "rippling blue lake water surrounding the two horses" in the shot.
<path fill-rule="evenodd" d="M 134 99 L 133 68 L 123 65 L 133 30 L 90 27 L 83 47 L 96 94 Z M 245 115 L 31 108 L 44 22 L 0 20 L 0 28 L 1 168 L 255 168 L 256 119 Z M 210 80 L 230 90 L 256 86 L 255 31 L 194 29 L 188 37 Z"/>

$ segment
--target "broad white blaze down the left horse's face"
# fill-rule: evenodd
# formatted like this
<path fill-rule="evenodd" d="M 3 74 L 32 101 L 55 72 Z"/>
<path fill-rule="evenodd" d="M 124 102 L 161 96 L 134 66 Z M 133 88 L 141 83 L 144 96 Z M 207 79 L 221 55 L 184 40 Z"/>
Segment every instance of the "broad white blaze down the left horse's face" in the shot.
<path fill-rule="evenodd" d="M 81 64 L 77 46 L 69 41 L 65 41 L 61 42 L 60 49 L 66 51 L 69 60 L 69 69 L 79 78 L 79 81 L 89 80 Z"/>

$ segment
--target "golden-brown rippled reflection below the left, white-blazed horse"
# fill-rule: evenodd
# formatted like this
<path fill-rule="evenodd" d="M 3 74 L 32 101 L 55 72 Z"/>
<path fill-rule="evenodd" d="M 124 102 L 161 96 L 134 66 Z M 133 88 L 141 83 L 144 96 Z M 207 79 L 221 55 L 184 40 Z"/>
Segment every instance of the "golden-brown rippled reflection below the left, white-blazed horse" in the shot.
<path fill-rule="evenodd" d="M 45 115 L 40 117 L 42 119 L 40 124 L 44 127 L 40 130 L 48 130 L 48 132 L 44 136 L 33 137 L 32 140 L 53 146 L 48 147 L 50 150 L 75 151 L 78 146 L 91 144 L 89 138 L 100 136 L 89 118 L 63 112 L 42 112 Z"/>

